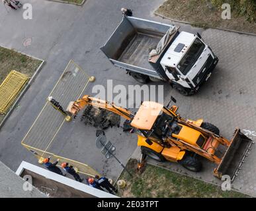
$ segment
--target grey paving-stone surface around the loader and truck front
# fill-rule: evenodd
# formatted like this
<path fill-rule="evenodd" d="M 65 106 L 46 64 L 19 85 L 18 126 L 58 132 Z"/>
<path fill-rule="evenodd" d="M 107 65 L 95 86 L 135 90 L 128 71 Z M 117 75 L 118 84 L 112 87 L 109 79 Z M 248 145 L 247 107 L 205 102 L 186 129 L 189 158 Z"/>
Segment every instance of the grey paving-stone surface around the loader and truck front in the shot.
<path fill-rule="evenodd" d="M 256 36 L 247 36 L 224 30 L 207 29 L 202 38 L 220 59 L 216 69 L 201 88 L 190 97 L 181 96 L 175 90 L 165 94 L 165 105 L 170 96 L 176 98 L 179 113 L 184 118 L 200 119 L 220 128 L 226 138 L 232 138 L 235 127 L 255 138 L 256 133 Z M 243 131 L 246 130 L 246 131 Z M 256 139 L 255 139 L 256 140 Z M 138 150 L 132 157 L 138 158 Z M 245 164 L 232 183 L 242 193 L 256 196 L 256 150 L 253 144 Z M 172 169 L 210 183 L 221 185 L 222 181 L 212 175 L 216 164 L 202 158 L 203 169 L 193 173 L 170 162 L 149 163 Z"/>

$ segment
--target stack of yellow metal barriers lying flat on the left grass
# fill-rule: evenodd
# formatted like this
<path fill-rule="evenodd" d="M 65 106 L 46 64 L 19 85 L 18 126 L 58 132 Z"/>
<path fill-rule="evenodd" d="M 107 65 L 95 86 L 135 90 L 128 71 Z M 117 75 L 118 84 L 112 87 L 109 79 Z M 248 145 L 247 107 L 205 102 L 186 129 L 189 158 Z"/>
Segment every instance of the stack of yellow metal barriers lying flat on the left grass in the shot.
<path fill-rule="evenodd" d="M 29 76 L 11 71 L 0 85 L 0 113 L 5 114 L 21 92 Z"/>

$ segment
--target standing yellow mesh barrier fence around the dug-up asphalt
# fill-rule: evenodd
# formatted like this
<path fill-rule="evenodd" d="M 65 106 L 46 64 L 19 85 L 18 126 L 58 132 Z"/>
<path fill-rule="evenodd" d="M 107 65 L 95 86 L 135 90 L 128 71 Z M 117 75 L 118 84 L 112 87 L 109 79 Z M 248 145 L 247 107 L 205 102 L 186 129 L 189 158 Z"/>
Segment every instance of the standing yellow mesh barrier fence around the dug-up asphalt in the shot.
<path fill-rule="evenodd" d="M 54 98 L 57 98 L 62 102 L 62 106 L 67 107 L 71 100 L 81 98 L 87 84 L 94 80 L 94 76 L 87 75 L 79 65 L 73 60 L 70 60 L 67 67 L 65 67 L 64 73 L 60 76 L 60 79 L 55 84 L 49 96 L 54 96 Z M 64 115 L 60 114 L 60 112 L 55 109 L 52 109 L 52 105 L 46 102 L 38 114 L 38 117 L 36 117 L 36 120 L 28 130 L 28 133 L 24 136 L 21 142 L 22 146 L 32 152 L 40 164 L 42 164 L 44 158 L 50 156 L 52 162 L 55 162 L 58 159 L 60 160 L 58 163 L 59 166 L 62 163 L 69 163 L 78 173 L 83 173 L 90 177 L 101 175 L 87 164 L 49 152 L 52 150 L 52 143 L 54 141 L 58 142 L 58 133 L 62 129 L 64 123 Z"/>

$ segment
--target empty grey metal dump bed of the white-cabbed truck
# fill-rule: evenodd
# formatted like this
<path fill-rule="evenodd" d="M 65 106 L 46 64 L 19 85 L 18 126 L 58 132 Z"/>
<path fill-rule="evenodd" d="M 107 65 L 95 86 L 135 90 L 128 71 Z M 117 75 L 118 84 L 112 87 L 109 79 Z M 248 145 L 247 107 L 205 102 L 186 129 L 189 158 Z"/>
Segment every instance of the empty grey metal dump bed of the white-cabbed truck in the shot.
<path fill-rule="evenodd" d="M 116 66 L 161 78 L 148 61 L 171 25 L 124 16 L 101 50 Z"/>

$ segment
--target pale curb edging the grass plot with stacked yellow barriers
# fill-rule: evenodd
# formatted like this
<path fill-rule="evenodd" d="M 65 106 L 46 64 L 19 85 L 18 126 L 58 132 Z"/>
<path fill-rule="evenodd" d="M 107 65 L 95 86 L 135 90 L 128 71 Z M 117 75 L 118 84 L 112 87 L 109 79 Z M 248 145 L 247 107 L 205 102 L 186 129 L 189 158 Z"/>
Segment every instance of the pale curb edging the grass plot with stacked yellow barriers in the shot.
<path fill-rule="evenodd" d="M 5 47 L 6 48 L 6 47 Z M 18 53 L 21 53 L 19 51 L 17 51 Z M 23 55 L 27 55 L 22 53 Z M 32 57 L 30 55 L 27 55 L 29 57 Z M 34 59 L 38 59 L 36 57 L 32 57 Z M 11 113 L 13 112 L 13 110 L 15 109 L 15 107 L 17 106 L 18 102 L 21 100 L 22 96 L 24 96 L 26 90 L 28 90 L 28 88 L 30 87 L 30 85 L 32 84 L 32 82 L 34 81 L 34 79 L 36 78 L 36 75 L 38 75 L 39 71 L 42 69 L 42 65 L 44 65 L 45 61 L 42 59 L 38 59 L 41 62 L 41 64 L 39 65 L 39 67 L 36 69 L 36 72 L 34 72 L 34 74 L 32 75 L 32 77 L 30 78 L 30 80 L 28 81 L 28 83 L 26 84 L 26 86 L 24 86 L 21 94 L 19 94 L 19 97 L 15 100 L 15 102 L 13 103 L 13 105 L 11 106 L 11 108 L 9 109 L 9 111 L 7 112 L 7 114 L 5 115 L 5 118 L 3 118 L 3 121 L 0 123 L 0 131 L 1 128 L 3 127 L 3 125 L 5 124 L 5 121 L 7 121 L 7 119 L 9 118 L 9 116 L 11 115 Z"/>

